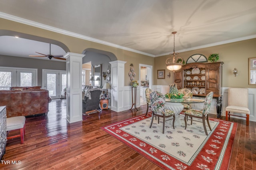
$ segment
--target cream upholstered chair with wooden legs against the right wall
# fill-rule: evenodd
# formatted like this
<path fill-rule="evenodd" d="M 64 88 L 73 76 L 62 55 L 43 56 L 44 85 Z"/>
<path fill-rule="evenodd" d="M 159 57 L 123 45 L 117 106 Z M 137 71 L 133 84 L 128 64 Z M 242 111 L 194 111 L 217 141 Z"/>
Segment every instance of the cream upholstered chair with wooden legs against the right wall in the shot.
<path fill-rule="evenodd" d="M 250 110 L 248 109 L 248 88 L 228 89 L 228 106 L 226 107 L 226 121 L 230 119 L 230 112 L 246 114 L 246 125 L 249 125 Z"/>

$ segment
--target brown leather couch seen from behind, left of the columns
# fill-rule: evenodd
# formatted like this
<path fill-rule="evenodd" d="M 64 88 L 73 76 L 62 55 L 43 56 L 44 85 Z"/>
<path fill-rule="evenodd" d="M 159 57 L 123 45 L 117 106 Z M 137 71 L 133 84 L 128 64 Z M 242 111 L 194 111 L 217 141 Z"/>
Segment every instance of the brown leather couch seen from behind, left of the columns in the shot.
<path fill-rule="evenodd" d="M 0 90 L 0 106 L 6 106 L 7 117 L 47 114 L 51 101 L 48 90 Z"/>

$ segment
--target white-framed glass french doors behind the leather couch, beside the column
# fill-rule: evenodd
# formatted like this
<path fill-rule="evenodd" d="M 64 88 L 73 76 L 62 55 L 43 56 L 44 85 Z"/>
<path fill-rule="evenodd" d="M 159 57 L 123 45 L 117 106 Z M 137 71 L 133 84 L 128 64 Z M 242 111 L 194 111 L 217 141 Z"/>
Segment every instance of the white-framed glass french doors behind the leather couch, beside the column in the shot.
<path fill-rule="evenodd" d="M 66 71 L 63 70 L 42 70 L 43 72 L 43 88 L 49 91 L 52 99 L 62 97 L 62 92 L 66 88 Z"/>

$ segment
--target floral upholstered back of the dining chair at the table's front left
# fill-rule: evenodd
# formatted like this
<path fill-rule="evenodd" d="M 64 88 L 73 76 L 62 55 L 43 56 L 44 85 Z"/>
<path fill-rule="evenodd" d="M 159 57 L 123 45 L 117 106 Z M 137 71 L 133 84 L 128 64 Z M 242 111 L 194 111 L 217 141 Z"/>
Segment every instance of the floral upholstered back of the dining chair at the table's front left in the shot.
<path fill-rule="evenodd" d="M 165 95 L 160 92 L 152 92 L 150 94 L 151 110 L 154 114 L 164 115 L 165 113 Z"/>

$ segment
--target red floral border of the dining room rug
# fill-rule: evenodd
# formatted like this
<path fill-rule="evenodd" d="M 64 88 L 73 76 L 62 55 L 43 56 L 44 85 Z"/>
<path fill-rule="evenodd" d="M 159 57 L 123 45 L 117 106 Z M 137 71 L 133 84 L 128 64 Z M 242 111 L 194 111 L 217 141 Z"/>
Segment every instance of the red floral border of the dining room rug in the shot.
<path fill-rule="evenodd" d="M 182 112 L 181 112 L 182 113 Z M 151 114 L 150 113 L 147 113 L 147 114 Z M 135 117 L 131 117 L 131 118 L 128 118 L 128 119 L 124 119 L 122 121 L 116 121 L 114 123 L 111 123 L 109 125 L 105 125 L 103 127 L 100 127 L 103 131 L 105 131 L 106 133 L 108 133 L 109 135 L 111 135 L 112 137 L 114 137 L 115 139 L 118 139 L 118 141 L 124 143 L 125 145 L 127 145 L 128 147 L 130 147 L 131 149 L 135 150 L 136 152 L 138 152 L 139 154 L 141 154 L 142 156 L 144 156 L 146 159 L 150 160 L 152 163 L 156 164 L 157 166 L 163 168 L 163 169 L 166 169 L 168 168 L 167 166 L 165 166 L 164 164 L 156 161 L 155 159 L 153 159 L 151 156 L 148 156 L 148 154 L 146 154 L 145 152 L 142 152 L 142 150 L 138 149 L 137 147 L 134 147 L 132 144 L 130 143 L 127 143 L 125 142 L 123 139 L 121 139 L 119 136 L 116 136 L 114 134 L 112 134 L 110 131 L 107 131 L 105 129 L 105 127 L 109 127 L 111 125 L 114 125 L 116 123 L 122 123 L 124 121 L 128 121 L 128 120 L 131 120 L 131 119 L 136 119 L 137 117 L 143 117 L 145 116 L 146 118 L 149 118 L 151 116 L 146 116 L 146 113 L 145 114 L 142 114 L 142 115 L 138 115 L 138 116 L 135 116 Z M 225 121 L 225 120 L 221 120 L 221 119 L 216 119 L 216 118 L 210 118 L 209 119 L 214 119 L 214 120 L 217 120 L 217 121 L 222 121 L 222 122 L 230 122 L 230 121 Z M 229 160 L 227 162 L 224 162 L 222 161 L 221 162 L 221 169 L 228 169 L 229 167 L 229 164 L 230 164 L 230 160 L 231 160 L 231 154 L 232 154 L 232 150 L 233 150 L 233 147 L 234 147 L 234 140 L 235 140 L 235 137 L 236 137 L 236 131 L 237 131 L 237 123 L 236 122 L 230 122 L 230 123 L 233 123 L 233 128 L 232 128 L 232 132 L 231 132 L 231 135 L 230 135 L 230 138 L 229 138 L 229 142 L 227 144 L 227 148 L 226 148 L 226 151 L 224 153 L 224 156 L 223 156 L 223 159 L 222 160 Z M 231 145 L 231 141 L 232 141 L 232 146 L 230 147 Z M 229 154 L 230 153 L 230 154 Z M 230 155 L 230 158 L 227 158 L 227 156 Z M 215 166 L 216 167 L 216 166 Z M 169 169 L 169 168 L 168 168 Z"/>

